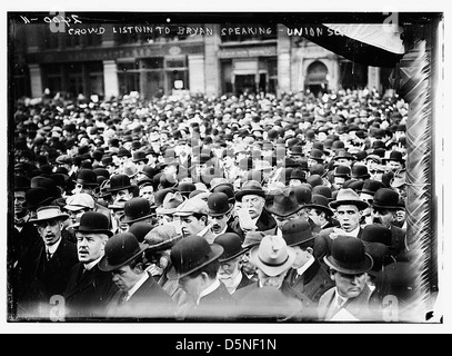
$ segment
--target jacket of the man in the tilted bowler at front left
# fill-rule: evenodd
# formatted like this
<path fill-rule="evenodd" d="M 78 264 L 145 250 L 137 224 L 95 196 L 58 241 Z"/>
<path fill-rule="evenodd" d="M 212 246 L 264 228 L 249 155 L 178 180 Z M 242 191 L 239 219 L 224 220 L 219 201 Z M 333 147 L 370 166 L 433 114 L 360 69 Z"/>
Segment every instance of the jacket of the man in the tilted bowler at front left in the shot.
<path fill-rule="evenodd" d="M 122 301 L 122 297 L 123 293 L 118 290 L 111 298 L 106 312 L 108 318 L 174 318 L 175 303 L 151 275 L 129 300 Z"/>

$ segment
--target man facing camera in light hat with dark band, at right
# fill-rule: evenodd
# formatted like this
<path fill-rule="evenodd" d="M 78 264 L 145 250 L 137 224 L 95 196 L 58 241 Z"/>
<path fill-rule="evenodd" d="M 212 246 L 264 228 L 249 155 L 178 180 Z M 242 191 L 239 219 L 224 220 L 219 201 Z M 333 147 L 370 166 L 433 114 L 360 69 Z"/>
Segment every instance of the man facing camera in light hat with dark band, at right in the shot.
<path fill-rule="evenodd" d="M 362 201 L 359 195 L 350 188 L 342 188 L 338 191 L 335 200 L 329 204 L 330 208 L 335 211 L 340 227 L 330 227 L 322 229 L 314 240 L 314 256 L 322 258 L 330 254 L 331 243 L 339 235 L 361 238 L 362 227 L 360 225 L 362 210 L 369 207 L 369 204 Z"/>

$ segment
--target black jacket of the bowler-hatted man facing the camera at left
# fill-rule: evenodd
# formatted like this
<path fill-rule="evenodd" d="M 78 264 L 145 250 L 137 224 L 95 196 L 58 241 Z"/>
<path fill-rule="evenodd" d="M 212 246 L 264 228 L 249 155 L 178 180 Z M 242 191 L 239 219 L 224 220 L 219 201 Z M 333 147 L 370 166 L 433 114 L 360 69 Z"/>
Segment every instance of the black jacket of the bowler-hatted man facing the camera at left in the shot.
<path fill-rule="evenodd" d="M 82 274 L 84 266 L 78 263 L 71 270 L 64 291 L 67 318 L 74 320 L 106 317 L 106 308 L 118 286 L 111 274 L 93 266 Z"/>

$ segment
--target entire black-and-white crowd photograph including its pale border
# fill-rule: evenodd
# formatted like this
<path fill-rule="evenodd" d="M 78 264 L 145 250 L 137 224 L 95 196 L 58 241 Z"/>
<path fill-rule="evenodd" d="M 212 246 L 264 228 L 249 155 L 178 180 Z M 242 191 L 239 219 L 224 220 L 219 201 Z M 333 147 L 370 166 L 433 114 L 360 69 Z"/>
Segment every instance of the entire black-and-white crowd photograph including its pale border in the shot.
<path fill-rule="evenodd" d="M 444 11 L 57 8 L 7 12 L 8 326 L 444 323 Z"/>

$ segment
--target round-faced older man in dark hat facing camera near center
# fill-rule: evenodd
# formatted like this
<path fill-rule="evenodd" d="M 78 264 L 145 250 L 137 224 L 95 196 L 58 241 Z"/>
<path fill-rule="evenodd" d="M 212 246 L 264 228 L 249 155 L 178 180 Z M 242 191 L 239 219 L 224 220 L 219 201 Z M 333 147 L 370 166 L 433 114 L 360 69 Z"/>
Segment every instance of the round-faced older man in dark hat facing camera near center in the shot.
<path fill-rule="evenodd" d="M 242 241 L 245 238 L 250 227 L 255 231 L 265 231 L 277 227 L 277 221 L 265 209 L 265 191 L 262 185 L 257 180 L 247 180 L 243 182 L 239 191 L 235 192 L 237 204 L 240 209 L 235 210 L 234 221 L 231 228 L 241 237 Z M 250 217 L 251 226 L 244 226 L 243 215 Z"/>

